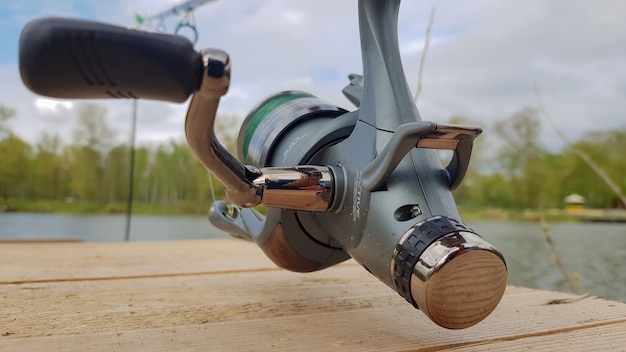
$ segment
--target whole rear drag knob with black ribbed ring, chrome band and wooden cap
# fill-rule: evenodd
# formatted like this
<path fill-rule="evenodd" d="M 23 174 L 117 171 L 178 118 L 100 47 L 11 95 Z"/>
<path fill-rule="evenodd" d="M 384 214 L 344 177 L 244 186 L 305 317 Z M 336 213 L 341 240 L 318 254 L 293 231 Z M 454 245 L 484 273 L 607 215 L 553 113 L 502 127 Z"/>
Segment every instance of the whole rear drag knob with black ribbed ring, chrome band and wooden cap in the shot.
<path fill-rule="evenodd" d="M 392 274 L 400 295 L 448 329 L 485 319 L 504 295 L 508 277 L 493 246 L 447 217 L 428 219 L 404 234 Z"/>

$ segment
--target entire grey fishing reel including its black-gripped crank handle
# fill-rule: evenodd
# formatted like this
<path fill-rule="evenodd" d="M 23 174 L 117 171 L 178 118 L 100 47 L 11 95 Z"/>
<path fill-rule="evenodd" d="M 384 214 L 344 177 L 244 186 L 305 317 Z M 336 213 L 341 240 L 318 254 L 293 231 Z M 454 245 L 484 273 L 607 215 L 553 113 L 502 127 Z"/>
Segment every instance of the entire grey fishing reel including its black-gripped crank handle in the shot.
<path fill-rule="evenodd" d="M 482 131 L 422 120 L 402 69 L 399 5 L 358 3 L 363 73 L 343 89 L 354 110 L 300 91 L 273 94 L 245 118 L 239 158 L 214 132 L 230 86 L 222 50 L 49 18 L 24 28 L 20 72 L 32 91 L 59 98 L 183 102 L 193 95 L 188 144 L 229 198 L 211 206 L 216 227 L 255 242 L 291 271 L 353 258 L 436 324 L 461 329 L 495 309 L 507 282 L 504 258 L 461 220 L 452 196 Z M 452 151 L 447 166 L 437 149 Z"/>

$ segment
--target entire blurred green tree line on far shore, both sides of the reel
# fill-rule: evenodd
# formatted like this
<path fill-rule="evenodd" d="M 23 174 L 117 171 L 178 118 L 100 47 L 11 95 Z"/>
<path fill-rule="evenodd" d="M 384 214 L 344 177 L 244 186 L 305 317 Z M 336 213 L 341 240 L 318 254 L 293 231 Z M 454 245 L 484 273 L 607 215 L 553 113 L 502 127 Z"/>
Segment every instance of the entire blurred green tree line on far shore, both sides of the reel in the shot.
<path fill-rule="evenodd" d="M 77 108 L 78 124 L 72 142 L 42 134 L 29 144 L 12 133 L 8 121 L 17 113 L 0 105 L 0 204 L 17 199 L 123 204 L 129 196 L 131 146 L 112 144 L 101 105 Z M 456 117 L 451 123 L 480 125 Z M 539 112 L 524 108 L 499 120 L 474 145 L 470 169 L 455 191 L 459 205 L 507 209 L 542 209 L 563 206 L 572 193 L 587 199 L 587 206 L 614 208 L 619 197 L 582 160 L 573 148 L 584 151 L 615 181 L 626 187 L 626 128 L 592 131 L 562 150 L 549 151 L 539 139 Z M 229 144 L 233 136 L 222 137 Z M 136 202 L 155 205 L 206 204 L 212 193 L 224 197 L 223 187 L 195 159 L 184 141 L 135 148 Z M 444 161 L 445 162 L 445 161 Z"/>

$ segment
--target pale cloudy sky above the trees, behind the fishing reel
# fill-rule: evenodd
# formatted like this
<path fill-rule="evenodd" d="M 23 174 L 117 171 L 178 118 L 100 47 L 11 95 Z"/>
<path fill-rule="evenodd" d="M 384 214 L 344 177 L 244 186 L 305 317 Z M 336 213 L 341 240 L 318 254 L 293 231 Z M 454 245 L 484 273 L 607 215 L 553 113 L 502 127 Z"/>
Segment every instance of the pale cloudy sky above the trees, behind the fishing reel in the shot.
<path fill-rule="evenodd" d="M 43 132 L 71 140 L 76 107 L 29 92 L 20 80 L 18 41 L 30 20 L 63 16 L 135 27 L 135 13 L 160 13 L 171 0 L 0 0 L 0 104 L 15 109 L 10 128 L 35 143 Z M 493 135 L 496 121 L 539 107 L 572 140 L 592 130 L 626 128 L 626 2 L 622 0 L 405 0 L 399 42 L 409 86 L 417 88 L 430 12 L 436 7 L 417 107 L 424 120 L 463 116 Z M 194 12 L 196 48 L 219 48 L 232 62 L 218 118 L 238 129 L 268 95 L 302 90 L 353 110 L 341 94 L 361 73 L 356 0 L 217 0 Z M 172 32 L 179 17 L 165 23 Z M 537 94 L 539 92 L 539 94 Z M 107 108 L 120 142 L 130 136 L 132 103 Z M 140 101 L 138 143 L 184 139 L 188 101 Z M 543 123 L 550 149 L 563 141 Z"/>

